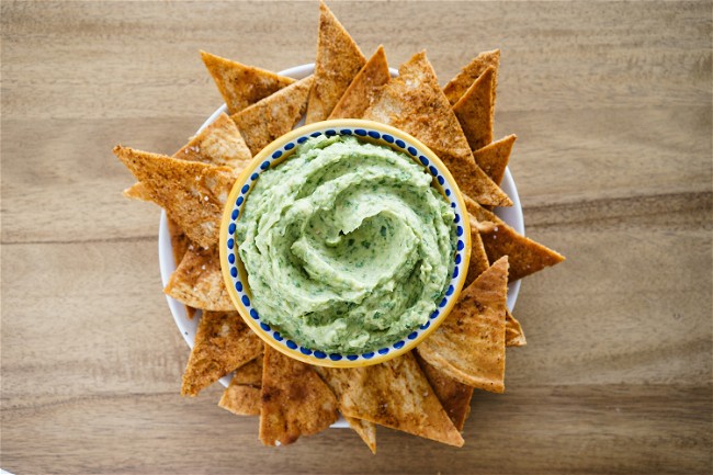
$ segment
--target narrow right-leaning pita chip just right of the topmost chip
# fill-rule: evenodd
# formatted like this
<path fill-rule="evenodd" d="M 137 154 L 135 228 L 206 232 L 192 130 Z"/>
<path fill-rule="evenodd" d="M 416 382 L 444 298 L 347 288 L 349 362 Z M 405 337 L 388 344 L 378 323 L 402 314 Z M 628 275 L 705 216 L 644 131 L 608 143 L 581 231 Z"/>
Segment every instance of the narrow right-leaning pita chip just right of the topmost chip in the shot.
<path fill-rule="evenodd" d="M 392 78 L 384 46 L 366 61 L 349 88 L 344 91 L 329 118 L 361 118 L 382 86 Z"/>

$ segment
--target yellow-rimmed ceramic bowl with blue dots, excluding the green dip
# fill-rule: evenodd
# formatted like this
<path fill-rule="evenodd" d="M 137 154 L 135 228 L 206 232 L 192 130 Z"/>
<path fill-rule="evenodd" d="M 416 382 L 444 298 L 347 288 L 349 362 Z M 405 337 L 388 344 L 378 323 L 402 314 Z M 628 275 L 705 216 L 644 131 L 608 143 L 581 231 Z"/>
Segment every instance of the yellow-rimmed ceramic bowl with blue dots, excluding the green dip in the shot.
<path fill-rule="evenodd" d="M 456 249 L 453 259 L 453 273 L 446 284 L 443 298 L 437 302 L 437 308 L 431 315 L 425 315 L 426 321 L 420 327 L 411 329 L 403 339 L 392 341 L 388 346 L 356 354 L 327 353 L 319 348 L 307 348 L 294 341 L 291 336 L 283 335 L 279 329 L 272 328 L 253 306 L 252 293 L 248 274 L 240 261 L 238 252 L 239 242 L 235 230 L 240 216 L 244 214 L 246 203 L 250 201 L 250 192 L 260 181 L 260 176 L 267 170 L 278 167 L 298 148 L 298 145 L 310 137 L 319 136 L 353 136 L 359 142 L 371 143 L 389 147 L 395 151 L 410 157 L 423 170 L 431 174 L 432 183 L 450 204 L 455 214 L 454 227 L 456 234 Z M 468 214 L 461 192 L 448 168 L 438 156 L 422 143 L 403 131 L 363 120 L 335 120 L 324 121 L 298 127 L 278 138 L 263 148 L 248 167 L 240 173 L 228 196 L 220 226 L 220 267 L 230 297 L 240 312 L 240 315 L 252 330 L 265 343 L 275 350 L 309 364 L 332 367 L 353 367 L 376 364 L 412 350 L 429 336 L 449 315 L 455 305 L 465 282 L 468 261 L 471 257 L 471 229 Z"/>

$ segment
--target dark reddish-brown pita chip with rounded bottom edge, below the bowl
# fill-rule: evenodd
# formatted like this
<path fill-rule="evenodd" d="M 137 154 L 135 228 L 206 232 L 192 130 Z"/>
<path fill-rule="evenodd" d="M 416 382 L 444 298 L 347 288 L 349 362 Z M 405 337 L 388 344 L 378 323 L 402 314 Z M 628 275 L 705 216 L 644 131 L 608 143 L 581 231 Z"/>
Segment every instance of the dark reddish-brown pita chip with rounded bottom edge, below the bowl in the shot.
<path fill-rule="evenodd" d="M 295 442 L 327 429 L 338 418 L 337 398 L 312 366 L 264 347 L 260 440 Z"/>

